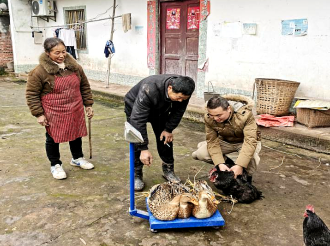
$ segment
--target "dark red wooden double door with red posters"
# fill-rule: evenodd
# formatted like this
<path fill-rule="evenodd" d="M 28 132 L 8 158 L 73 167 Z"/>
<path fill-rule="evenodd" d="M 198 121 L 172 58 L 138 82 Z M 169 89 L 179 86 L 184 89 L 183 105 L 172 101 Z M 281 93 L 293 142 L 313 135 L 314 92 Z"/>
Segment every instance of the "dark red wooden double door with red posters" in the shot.
<path fill-rule="evenodd" d="M 199 0 L 161 2 L 161 73 L 197 80 Z"/>

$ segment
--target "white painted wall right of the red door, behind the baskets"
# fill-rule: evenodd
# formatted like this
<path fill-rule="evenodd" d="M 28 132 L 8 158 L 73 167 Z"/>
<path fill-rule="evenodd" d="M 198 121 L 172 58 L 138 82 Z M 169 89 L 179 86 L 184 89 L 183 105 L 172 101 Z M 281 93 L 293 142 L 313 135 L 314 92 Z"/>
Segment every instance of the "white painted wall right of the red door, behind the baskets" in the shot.
<path fill-rule="evenodd" d="M 296 95 L 329 99 L 328 0 L 212 0 L 208 18 L 206 82 L 252 91 L 255 78 L 300 82 Z M 308 19 L 308 34 L 283 36 L 281 20 Z M 257 35 L 215 36 L 217 23 L 257 23 Z"/>

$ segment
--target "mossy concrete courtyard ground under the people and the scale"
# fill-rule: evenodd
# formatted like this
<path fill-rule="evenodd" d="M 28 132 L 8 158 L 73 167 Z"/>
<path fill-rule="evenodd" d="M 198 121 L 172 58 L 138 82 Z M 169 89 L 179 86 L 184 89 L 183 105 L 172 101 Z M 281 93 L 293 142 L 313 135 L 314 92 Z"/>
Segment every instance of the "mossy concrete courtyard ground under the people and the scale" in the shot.
<path fill-rule="evenodd" d="M 123 139 L 122 103 L 96 99 L 95 169 L 70 166 L 69 146 L 61 144 L 68 178 L 55 180 L 44 150 L 45 130 L 25 103 L 25 83 L 0 78 L 0 89 L 0 245 L 301 246 L 307 204 L 313 204 L 330 226 L 330 157 L 263 140 L 262 161 L 254 176 L 263 200 L 236 204 L 233 209 L 220 203 L 226 221 L 220 229 L 152 233 L 148 221 L 128 213 L 129 149 Z M 203 167 L 197 178 L 207 179 L 211 166 L 191 158 L 204 139 L 203 125 L 184 120 L 174 133 L 176 173 L 181 179 L 191 178 Z M 155 161 L 145 168 L 145 191 L 164 182 L 151 134 L 150 139 Z M 83 149 L 88 157 L 87 138 Z M 137 208 L 145 210 L 143 198 Z"/>

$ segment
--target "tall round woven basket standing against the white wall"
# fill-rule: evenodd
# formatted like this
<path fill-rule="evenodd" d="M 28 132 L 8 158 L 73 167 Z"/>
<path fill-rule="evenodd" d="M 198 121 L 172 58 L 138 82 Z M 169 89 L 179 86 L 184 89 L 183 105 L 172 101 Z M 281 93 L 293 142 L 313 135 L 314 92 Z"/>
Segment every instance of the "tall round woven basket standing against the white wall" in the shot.
<path fill-rule="evenodd" d="M 299 82 L 256 78 L 257 114 L 288 115 Z"/>

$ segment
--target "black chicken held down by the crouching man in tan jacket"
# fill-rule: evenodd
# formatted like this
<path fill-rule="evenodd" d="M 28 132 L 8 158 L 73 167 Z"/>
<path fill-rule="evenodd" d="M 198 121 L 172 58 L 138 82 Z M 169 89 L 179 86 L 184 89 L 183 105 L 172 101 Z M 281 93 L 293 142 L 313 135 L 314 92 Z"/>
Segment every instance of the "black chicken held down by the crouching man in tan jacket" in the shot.
<path fill-rule="evenodd" d="M 225 164 L 229 168 L 235 165 L 233 160 L 228 157 Z M 227 196 L 232 195 L 238 202 L 251 203 L 263 197 L 262 192 L 247 181 L 246 170 L 243 170 L 243 174 L 235 179 L 234 172 L 220 171 L 219 166 L 216 166 L 210 171 L 209 177 L 216 188 L 222 190 Z"/>

